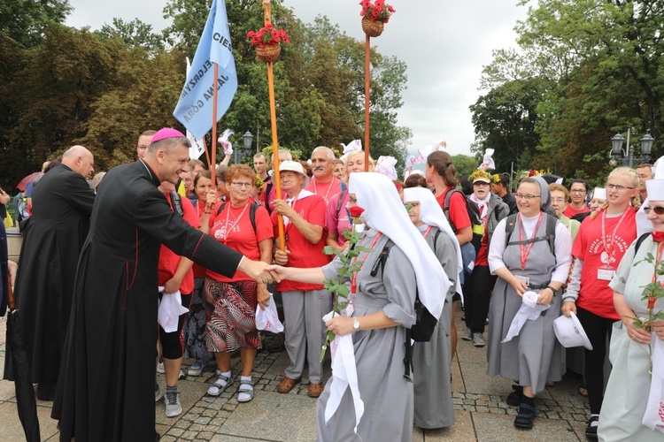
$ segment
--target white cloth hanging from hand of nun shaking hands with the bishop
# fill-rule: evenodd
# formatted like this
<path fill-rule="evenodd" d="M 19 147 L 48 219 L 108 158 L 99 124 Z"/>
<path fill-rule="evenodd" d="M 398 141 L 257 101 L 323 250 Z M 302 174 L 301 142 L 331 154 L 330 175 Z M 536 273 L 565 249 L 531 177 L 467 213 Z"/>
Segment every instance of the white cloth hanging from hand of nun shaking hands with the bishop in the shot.
<path fill-rule="evenodd" d="M 323 316 L 323 321 L 327 322 L 332 318 L 332 312 Z M 352 335 L 335 336 L 330 344 L 332 352 L 332 379 L 329 382 L 330 394 L 328 404 L 325 407 L 325 423 L 335 415 L 336 408 L 339 408 L 341 399 L 347 387 L 351 387 L 352 401 L 355 407 L 355 433 L 358 432 L 358 425 L 362 415 L 364 415 L 364 402 L 359 397 L 358 370 L 355 366 L 355 349 L 352 345 Z"/>

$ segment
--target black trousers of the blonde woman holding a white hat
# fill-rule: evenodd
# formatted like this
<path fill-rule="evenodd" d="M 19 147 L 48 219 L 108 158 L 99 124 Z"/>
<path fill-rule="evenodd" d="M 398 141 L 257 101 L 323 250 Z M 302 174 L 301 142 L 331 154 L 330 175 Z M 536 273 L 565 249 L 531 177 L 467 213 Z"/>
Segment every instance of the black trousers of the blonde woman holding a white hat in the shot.
<path fill-rule="evenodd" d="M 592 351 L 585 350 L 583 376 L 591 404 L 591 415 L 598 415 L 604 400 L 604 358 L 606 357 L 606 338 L 611 340 L 611 330 L 615 319 L 597 316 L 588 310 L 576 308 L 576 316 L 583 325 L 585 334 L 591 341 Z"/>

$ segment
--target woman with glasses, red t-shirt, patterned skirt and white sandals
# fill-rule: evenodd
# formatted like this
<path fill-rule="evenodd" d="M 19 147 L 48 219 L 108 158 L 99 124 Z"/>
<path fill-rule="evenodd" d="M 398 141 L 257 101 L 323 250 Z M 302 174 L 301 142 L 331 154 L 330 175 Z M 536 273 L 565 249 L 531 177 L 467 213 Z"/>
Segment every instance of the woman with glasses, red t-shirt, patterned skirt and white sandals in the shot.
<path fill-rule="evenodd" d="M 210 214 L 210 234 L 243 255 L 266 263 L 272 261 L 272 221 L 267 210 L 255 208 L 254 222 L 251 222 L 251 187 L 255 175 L 245 164 L 235 164 L 226 173 L 228 202 L 217 203 Z M 213 192 L 208 193 L 208 201 L 214 201 Z M 255 225 L 255 227 L 254 227 Z M 205 278 L 205 303 L 207 324 L 205 344 L 214 352 L 219 365 L 219 378 L 208 388 L 211 396 L 219 396 L 232 384 L 230 355 L 239 348 L 242 361 L 242 377 L 237 390 L 238 402 L 253 399 L 251 371 L 260 347 L 259 332 L 256 330 L 256 308 L 267 305 L 270 293 L 267 286 L 242 271 L 236 271 L 233 278 L 226 278 L 208 270 Z"/>

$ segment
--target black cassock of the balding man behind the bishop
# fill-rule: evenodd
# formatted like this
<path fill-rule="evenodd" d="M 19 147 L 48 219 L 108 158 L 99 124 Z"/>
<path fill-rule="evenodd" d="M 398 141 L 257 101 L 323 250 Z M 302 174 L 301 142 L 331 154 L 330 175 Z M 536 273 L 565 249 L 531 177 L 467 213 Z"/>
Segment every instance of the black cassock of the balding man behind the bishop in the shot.
<path fill-rule="evenodd" d="M 65 164 L 46 173 L 33 193 L 14 293 L 32 381 L 49 383 L 51 389 L 58 379 L 76 263 L 94 202 L 88 182 Z"/>

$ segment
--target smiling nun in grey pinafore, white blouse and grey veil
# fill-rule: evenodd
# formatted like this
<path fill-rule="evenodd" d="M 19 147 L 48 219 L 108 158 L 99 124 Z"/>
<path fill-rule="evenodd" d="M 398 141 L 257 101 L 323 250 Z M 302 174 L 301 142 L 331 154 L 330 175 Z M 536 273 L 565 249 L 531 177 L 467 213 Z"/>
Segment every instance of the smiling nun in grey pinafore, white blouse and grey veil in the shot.
<path fill-rule="evenodd" d="M 534 397 L 547 381 L 559 381 L 565 373 L 564 348 L 556 339 L 553 321 L 560 316 L 561 287 L 567 281 L 571 263 L 572 240 L 556 220 L 554 252 L 546 238 L 546 210 L 551 194 L 541 177 L 522 179 L 516 194 L 519 214 L 506 242 L 506 223 L 502 220 L 493 233 L 489 248 L 489 268 L 498 275 L 489 311 L 490 376 L 518 379 L 507 403 L 519 406 L 514 425 L 532 428 L 537 408 Z M 521 295 L 538 293 L 537 303 L 551 305 L 536 320 L 528 320 L 521 332 L 507 342 L 514 316 L 521 309 Z"/>

